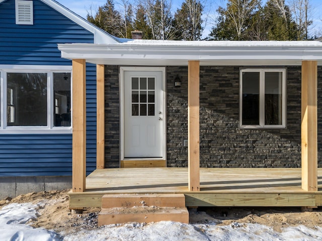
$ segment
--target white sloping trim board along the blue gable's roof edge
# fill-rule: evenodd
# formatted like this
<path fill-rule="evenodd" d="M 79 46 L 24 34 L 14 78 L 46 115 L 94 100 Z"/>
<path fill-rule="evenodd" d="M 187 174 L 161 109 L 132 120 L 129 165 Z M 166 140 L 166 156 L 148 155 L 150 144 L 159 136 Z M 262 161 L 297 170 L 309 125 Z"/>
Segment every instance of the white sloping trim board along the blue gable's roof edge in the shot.
<path fill-rule="evenodd" d="M 75 22 L 79 26 L 85 28 L 89 32 L 94 34 L 94 43 L 95 44 L 116 44 L 119 41 L 109 33 L 103 31 L 102 29 L 98 28 L 94 24 L 91 24 L 87 20 L 83 19 L 81 16 L 73 13 L 69 9 L 65 8 L 64 6 L 60 5 L 59 3 L 55 2 L 54 0 L 40 0 L 46 5 L 50 6 L 57 12 L 61 13 L 71 21 Z M 0 2 L 1 3 L 1 2 Z"/>

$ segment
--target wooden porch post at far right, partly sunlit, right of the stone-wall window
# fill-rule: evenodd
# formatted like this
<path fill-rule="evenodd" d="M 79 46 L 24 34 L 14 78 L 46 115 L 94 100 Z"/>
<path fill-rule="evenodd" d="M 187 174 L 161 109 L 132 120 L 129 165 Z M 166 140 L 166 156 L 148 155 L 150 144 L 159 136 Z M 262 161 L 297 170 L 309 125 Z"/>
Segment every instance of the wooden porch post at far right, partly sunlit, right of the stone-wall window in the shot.
<path fill-rule="evenodd" d="M 317 191 L 317 61 L 302 61 L 302 189 Z"/>

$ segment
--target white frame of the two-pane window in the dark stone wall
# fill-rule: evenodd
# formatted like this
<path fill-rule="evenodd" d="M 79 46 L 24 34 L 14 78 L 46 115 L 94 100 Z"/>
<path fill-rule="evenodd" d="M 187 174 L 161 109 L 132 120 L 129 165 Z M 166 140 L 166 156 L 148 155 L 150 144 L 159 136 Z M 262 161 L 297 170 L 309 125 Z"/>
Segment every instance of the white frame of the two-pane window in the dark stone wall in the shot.
<path fill-rule="evenodd" d="M 260 73 L 260 125 L 243 125 L 243 72 Z M 265 73 L 282 72 L 282 125 L 265 125 Z M 284 129 L 286 128 L 286 69 L 254 68 L 241 69 L 239 74 L 239 129 Z"/>

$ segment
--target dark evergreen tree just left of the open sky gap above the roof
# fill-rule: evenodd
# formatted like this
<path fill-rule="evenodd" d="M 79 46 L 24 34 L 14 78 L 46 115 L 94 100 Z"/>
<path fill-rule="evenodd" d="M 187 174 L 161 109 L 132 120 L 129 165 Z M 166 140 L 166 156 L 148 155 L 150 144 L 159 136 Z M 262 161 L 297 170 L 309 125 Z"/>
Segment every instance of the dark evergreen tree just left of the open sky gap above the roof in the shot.
<path fill-rule="evenodd" d="M 176 26 L 177 33 L 176 39 L 178 40 L 200 40 L 202 35 L 202 12 L 203 6 L 198 0 L 186 0 L 178 9 L 174 25 Z"/>

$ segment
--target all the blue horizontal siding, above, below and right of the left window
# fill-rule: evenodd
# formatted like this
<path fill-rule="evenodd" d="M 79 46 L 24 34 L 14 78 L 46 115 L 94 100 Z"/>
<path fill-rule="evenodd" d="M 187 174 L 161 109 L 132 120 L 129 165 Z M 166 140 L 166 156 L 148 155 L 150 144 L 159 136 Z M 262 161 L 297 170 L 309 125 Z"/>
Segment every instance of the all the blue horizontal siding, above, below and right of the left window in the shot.
<path fill-rule="evenodd" d="M 0 4 L 0 64 L 71 65 L 58 43 L 94 43 L 94 35 L 34 0 L 34 25 L 16 25 L 15 1 Z M 96 66 L 87 64 L 87 174 L 96 169 Z M 71 134 L 0 135 L 0 177 L 69 176 Z"/>

